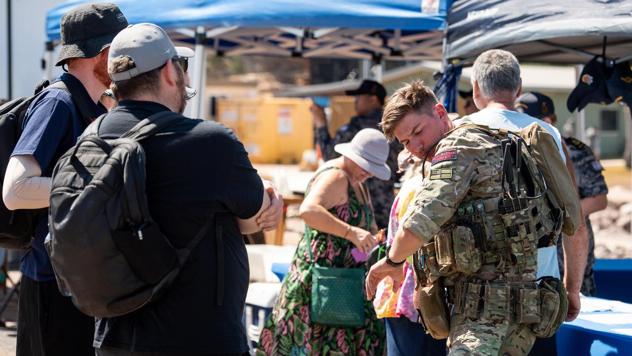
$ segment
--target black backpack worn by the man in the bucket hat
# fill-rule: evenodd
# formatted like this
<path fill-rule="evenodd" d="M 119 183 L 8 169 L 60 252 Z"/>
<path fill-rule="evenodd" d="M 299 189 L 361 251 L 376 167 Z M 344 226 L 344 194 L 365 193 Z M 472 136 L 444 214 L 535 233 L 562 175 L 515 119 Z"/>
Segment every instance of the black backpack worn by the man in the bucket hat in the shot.
<path fill-rule="evenodd" d="M 6 168 L 9 158 L 15 145 L 22 134 L 24 118 L 27 115 L 28 106 L 33 99 L 37 98 L 40 92 L 49 88 L 63 89 L 73 96 L 73 101 L 79 115 L 83 118 L 92 117 L 92 109 L 87 105 L 85 89 L 73 87 L 71 83 L 64 83 L 61 80 L 49 86 L 49 81 L 44 79 L 35 86 L 33 96 L 17 98 L 0 106 L 0 189 L 2 188 Z M 76 98 L 76 99 L 75 99 Z M 45 167 L 42 167 L 44 169 Z M 35 227 L 46 217 L 46 208 L 41 209 L 18 209 L 9 210 L 0 199 L 0 247 L 9 250 L 25 250 L 30 248 Z"/>

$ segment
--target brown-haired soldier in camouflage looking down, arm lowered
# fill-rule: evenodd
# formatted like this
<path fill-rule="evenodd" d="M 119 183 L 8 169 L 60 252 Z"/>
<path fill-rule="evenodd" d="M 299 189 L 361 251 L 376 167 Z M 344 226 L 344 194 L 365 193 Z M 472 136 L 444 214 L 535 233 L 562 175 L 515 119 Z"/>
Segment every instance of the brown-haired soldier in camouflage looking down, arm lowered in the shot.
<path fill-rule="evenodd" d="M 424 248 L 430 243 L 437 246 L 441 239 L 454 239 L 454 232 L 461 228 L 459 219 L 464 215 L 489 211 L 491 216 L 495 209 L 497 216 L 498 198 L 502 193 L 501 144 L 482 130 L 463 127 L 468 123 L 464 120 L 461 128 L 455 129 L 445 108 L 423 82 L 404 86 L 389 100 L 381 123 L 384 134 L 389 139 L 398 139 L 413 155 L 425 160 L 427 175 L 408 208 L 403 229 L 387 249 L 387 257 L 377 262 L 368 274 L 368 298 L 375 295 L 377 284 L 387 276 L 394 280 L 396 291 L 403 279 L 398 267 L 400 262 L 422 245 Z M 490 248 L 494 241 L 492 237 L 483 243 Z M 521 240 L 517 242 L 524 245 Z M 479 259 L 477 265 L 473 262 L 474 255 L 465 251 L 460 245 L 454 245 L 454 259 L 461 264 L 461 270 L 470 269 L 470 272 L 444 271 L 449 265 L 437 266 L 433 262 L 437 270 L 445 272 L 439 273 L 442 276 L 439 278 L 454 303 L 447 339 L 449 355 L 526 355 L 535 340 L 532 327 L 518 323 L 516 315 L 511 314 L 513 311 L 506 312 L 509 307 L 502 305 L 516 298 L 514 286 L 536 288 L 537 246 L 526 244 L 525 249 L 516 254 L 518 260 L 501 258 L 499 263 L 493 264 Z M 424 263 L 430 265 L 430 260 Z M 428 282 L 435 283 L 439 278 L 430 276 Z M 464 295 L 459 293 L 464 288 L 479 288 L 475 293 L 477 306 L 469 310 L 468 305 L 456 301 L 457 295 Z M 511 296 L 506 294 L 506 288 L 511 290 Z M 530 310 L 533 312 L 536 308 L 534 300 Z"/>

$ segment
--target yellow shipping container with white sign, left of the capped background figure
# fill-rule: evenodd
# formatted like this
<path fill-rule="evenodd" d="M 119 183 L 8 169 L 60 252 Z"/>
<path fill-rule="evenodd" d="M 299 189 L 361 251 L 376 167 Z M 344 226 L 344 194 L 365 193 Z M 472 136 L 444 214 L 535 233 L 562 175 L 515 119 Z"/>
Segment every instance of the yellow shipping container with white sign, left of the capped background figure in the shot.
<path fill-rule="evenodd" d="M 217 120 L 234 130 L 251 162 L 298 163 L 313 148 L 310 105 L 299 98 L 220 99 Z"/>

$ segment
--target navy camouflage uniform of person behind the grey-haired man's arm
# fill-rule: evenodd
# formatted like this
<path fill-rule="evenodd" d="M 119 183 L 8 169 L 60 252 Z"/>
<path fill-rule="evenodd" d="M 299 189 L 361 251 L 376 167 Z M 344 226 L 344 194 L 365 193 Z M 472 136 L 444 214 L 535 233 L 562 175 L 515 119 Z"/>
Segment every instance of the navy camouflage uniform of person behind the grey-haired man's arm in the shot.
<path fill-rule="evenodd" d="M 575 180 L 580 194 L 580 200 L 607 194 L 608 187 L 605 185 L 604 175 L 601 173 L 604 168 L 599 160 L 593 155 L 592 149 L 585 143 L 573 137 L 564 138 L 568 148 L 569 156 L 573 161 L 575 170 Z M 581 283 L 581 294 L 595 296 L 595 277 L 593 276 L 593 266 L 595 265 L 595 235 L 590 226 L 590 219 L 586 216 L 586 229 L 588 229 L 588 261 L 584 270 L 584 280 Z M 557 241 L 557 263 L 559 264 L 559 274 L 564 277 L 564 253 L 562 251 L 562 239 Z"/>

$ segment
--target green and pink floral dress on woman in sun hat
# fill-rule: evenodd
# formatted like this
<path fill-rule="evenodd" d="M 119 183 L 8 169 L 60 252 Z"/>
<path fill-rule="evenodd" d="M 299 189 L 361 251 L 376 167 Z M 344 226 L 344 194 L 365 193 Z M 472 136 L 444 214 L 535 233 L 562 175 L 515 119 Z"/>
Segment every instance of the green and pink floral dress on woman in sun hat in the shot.
<path fill-rule="evenodd" d="M 327 167 L 315 174 L 308 184 L 306 195 L 314 179 L 330 169 L 340 168 Z M 343 170 L 341 172 L 344 173 Z M 364 202 L 360 203 L 349 182 L 349 201 L 329 209 L 329 212 L 351 226 L 368 230 L 373 224 L 368 204 L 366 196 Z M 307 234 L 312 239 L 311 246 L 308 246 L 305 237 Z M 385 327 L 375 316 L 373 305 L 369 301 L 365 302 L 363 327 L 332 327 L 310 322 L 314 261 L 310 260 L 307 249 L 312 250 L 315 262 L 323 267 L 362 267 L 363 262 L 355 262 L 351 256 L 354 247 L 347 239 L 305 226 L 305 235 L 298 243 L 274 310 L 261 333 L 257 346 L 258 356 L 386 355 Z"/>

